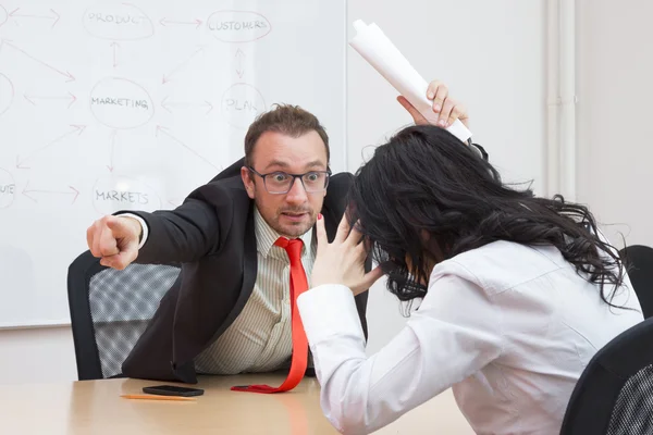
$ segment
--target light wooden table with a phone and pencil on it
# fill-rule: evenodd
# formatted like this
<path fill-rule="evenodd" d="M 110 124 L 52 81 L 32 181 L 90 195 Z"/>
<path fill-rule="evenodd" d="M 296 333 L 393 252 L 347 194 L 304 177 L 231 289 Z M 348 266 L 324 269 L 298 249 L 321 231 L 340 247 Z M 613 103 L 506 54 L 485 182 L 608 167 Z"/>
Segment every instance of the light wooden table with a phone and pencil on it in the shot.
<path fill-rule="evenodd" d="M 305 378 L 291 393 L 236 393 L 232 385 L 279 385 L 283 375 L 205 376 L 204 396 L 194 402 L 134 400 L 140 380 L 65 384 L 0 385 L 0 433 L 23 434 L 262 434 L 308 435 L 337 432 L 323 417 L 320 387 Z M 181 384 L 180 384 L 181 385 Z M 412 410 L 375 434 L 473 434 L 451 391 Z"/>

